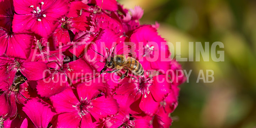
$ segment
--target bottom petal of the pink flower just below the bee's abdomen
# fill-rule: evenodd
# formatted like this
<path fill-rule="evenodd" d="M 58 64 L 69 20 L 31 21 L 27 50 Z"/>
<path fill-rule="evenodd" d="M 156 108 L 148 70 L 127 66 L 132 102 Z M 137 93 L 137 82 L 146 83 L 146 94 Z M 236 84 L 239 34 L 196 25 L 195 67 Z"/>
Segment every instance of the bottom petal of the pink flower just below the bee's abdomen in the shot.
<path fill-rule="evenodd" d="M 150 105 L 150 107 L 148 105 Z M 150 116 L 153 116 L 153 115 L 156 114 L 157 110 L 159 109 L 160 103 L 156 102 L 153 99 L 151 93 L 149 93 L 149 94 L 146 93 L 146 94 L 142 95 L 142 99 L 141 99 L 141 102 L 140 102 L 139 106 L 140 106 L 140 109 L 144 113 L 146 113 Z"/>

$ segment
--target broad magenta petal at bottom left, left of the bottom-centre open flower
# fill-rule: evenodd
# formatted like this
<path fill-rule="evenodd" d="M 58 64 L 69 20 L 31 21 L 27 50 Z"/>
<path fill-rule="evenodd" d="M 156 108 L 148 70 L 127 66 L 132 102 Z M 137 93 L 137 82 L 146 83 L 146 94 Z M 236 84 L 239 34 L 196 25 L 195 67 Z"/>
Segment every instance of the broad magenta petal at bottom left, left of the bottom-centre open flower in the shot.
<path fill-rule="evenodd" d="M 39 99 L 28 100 L 22 110 L 28 115 L 36 127 L 41 128 L 46 128 L 55 115 L 52 112 L 52 107 Z"/>

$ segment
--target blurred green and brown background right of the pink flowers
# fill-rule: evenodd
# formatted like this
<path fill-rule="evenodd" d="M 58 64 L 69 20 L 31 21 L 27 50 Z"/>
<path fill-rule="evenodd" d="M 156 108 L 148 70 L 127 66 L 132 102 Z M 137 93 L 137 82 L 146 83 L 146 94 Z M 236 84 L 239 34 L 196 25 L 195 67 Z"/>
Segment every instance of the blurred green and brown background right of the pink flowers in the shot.
<path fill-rule="evenodd" d="M 255 0 L 118 1 L 127 8 L 140 5 L 141 23 L 158 21 L 162 37 L 181 42 L 181 57 L 188 57 L 188 42 L 224 43 L 224 62 L 180 62 L 193 71 L 180 86 L 172 127 L 256 127 Z M 196 83 L 200 69 L 214 70 L 214 82 Z"/>

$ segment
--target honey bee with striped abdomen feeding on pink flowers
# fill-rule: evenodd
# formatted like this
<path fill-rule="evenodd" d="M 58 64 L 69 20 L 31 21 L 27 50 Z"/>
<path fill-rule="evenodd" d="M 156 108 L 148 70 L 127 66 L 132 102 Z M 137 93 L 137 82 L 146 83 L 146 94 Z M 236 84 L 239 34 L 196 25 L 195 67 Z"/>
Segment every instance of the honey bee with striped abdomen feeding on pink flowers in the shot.
<path fill-rule="evenodd" d="M 126 58 L 124 55 L 114 55 L 110 58 L 110 61 L 106 62 L 106 67 L 114 69 L 112 71 L 107 71 L 107 73 L 119 72 L 122 69 L 126 70 L 120 79 L 128 76 L 129 70 L 135 75 L 144 75 L 141 63 L 129 56 Z"/>

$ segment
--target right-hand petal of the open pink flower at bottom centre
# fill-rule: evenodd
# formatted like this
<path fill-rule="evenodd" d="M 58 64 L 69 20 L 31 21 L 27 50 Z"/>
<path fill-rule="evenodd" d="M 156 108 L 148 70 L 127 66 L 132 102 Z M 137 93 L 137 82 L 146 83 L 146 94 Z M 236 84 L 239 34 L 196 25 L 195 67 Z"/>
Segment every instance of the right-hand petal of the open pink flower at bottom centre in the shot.
<path fill-rule="evenodd" d="M 97 121 L 108 115 L 116 114 L 119 109 L 117 102 L 113 97 L 106 98 L 105 96 L 101 96 L 93 99 L 91 102 L 93 107 L 90 108 L 89 111 Z"/>

